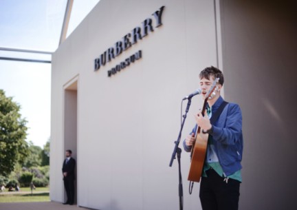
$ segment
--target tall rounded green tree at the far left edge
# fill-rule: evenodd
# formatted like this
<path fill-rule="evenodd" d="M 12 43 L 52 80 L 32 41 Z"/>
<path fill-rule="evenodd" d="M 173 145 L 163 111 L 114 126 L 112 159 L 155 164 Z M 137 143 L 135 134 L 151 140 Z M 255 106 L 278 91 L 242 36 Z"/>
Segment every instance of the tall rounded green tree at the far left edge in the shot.
<path fill-rule="evenodd" d="M 8 176 L 14 165 L 28 156 L 25 141 L 27 121 L 19 114 L 20 106 L 0 90 L 0 175 Z"/>

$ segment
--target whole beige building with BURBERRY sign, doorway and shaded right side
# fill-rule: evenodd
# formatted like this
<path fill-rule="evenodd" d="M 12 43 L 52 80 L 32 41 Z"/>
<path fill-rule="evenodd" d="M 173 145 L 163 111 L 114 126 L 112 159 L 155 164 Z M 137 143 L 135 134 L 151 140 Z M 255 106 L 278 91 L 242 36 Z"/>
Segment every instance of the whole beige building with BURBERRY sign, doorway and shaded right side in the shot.
<path fill-rule="evenodd" d="M 52 55 L 51 200 L 65 199 L 61 167 L 72 149 L 78 206 L 177 209 L 177 160 L 168 165 L 181 98 L 214 65 L 224 98 L 243 111 L 240 209 L 292 207 L 297 117 L 283 110 L 293 98 L 284 90 L 296 96 L 292 11 L 272 1 L 101 0 Z M 182 138 L 201 104 L 192 99 Z M 199 184 L 187 192 L 189 155 L 181 157 L 184 209 L 201 209 Z"/>

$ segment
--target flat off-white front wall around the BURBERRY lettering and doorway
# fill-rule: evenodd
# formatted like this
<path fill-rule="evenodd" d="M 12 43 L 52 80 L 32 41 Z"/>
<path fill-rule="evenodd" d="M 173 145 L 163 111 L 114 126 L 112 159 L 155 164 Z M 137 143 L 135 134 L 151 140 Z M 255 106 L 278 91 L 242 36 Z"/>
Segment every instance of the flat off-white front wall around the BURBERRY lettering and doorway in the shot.
<path fill-rule="evenodd" d="M 165 6 L 163 25 L 94 72 L 94 59 Z M 217 65 L 214 1 L 102 0 L 52 56 L 51 200 L 63 202 L 63 86 L 78 76 L 78 205 L 94 209 L 178 209 L 181 98 L 199 72 Z M 153 23 L 155 24 L 155 23 Z M 142 59 L 107 70 L 142 50 Z M 193 98 L 183 137 L 201 100 Z M 185 104 L 186 105 L 186 104 Z M 189 156 L 182 152 L 185 209 L 201 209 L 199 185 L 188 196 Z"/>

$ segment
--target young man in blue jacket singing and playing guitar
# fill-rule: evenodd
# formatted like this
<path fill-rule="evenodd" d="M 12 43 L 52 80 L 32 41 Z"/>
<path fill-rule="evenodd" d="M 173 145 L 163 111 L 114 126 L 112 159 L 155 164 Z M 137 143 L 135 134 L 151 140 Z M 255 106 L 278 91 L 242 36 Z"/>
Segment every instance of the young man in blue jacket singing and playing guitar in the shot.
<path fill-rule="evenodd" d="M 197 125 L 184 140 L 184 149 L 191 151 L 197 127 L 207 132 L 208 146 L 203 165 L 199 197 L 203 210 L 237 210 L 241 179 L 241 159 L 243 154 L 242 116 L 239 105 L 225 103 L 220 95 L 223 74 L 216 67 L 206 67 L 199 74 L 202 98 L 215 78 L 219 78 L 215 95 L 208 98 L 207 113 L 195 115 Z M 219 108 L 222 104 L 225 107 Z M 218 110 L 222 111 L 218 111 Z M 213 123 L 210 119 L 221 112 Z"/>

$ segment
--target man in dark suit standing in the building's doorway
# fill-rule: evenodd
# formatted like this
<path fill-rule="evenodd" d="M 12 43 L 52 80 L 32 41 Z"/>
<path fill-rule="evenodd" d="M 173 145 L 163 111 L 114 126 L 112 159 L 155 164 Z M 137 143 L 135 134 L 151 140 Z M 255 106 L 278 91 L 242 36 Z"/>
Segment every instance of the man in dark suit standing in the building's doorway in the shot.
<path fill-rule="evenodd" d="M 72 151 L 70 149 L 66 150 L 66 159 L 63 162 L 63 180 L 64 187 L 67 193 L 67 202 L 63 204 L 74 204 L 74 169 L 76 165 L 76 160 L 72 158 Z"/>

